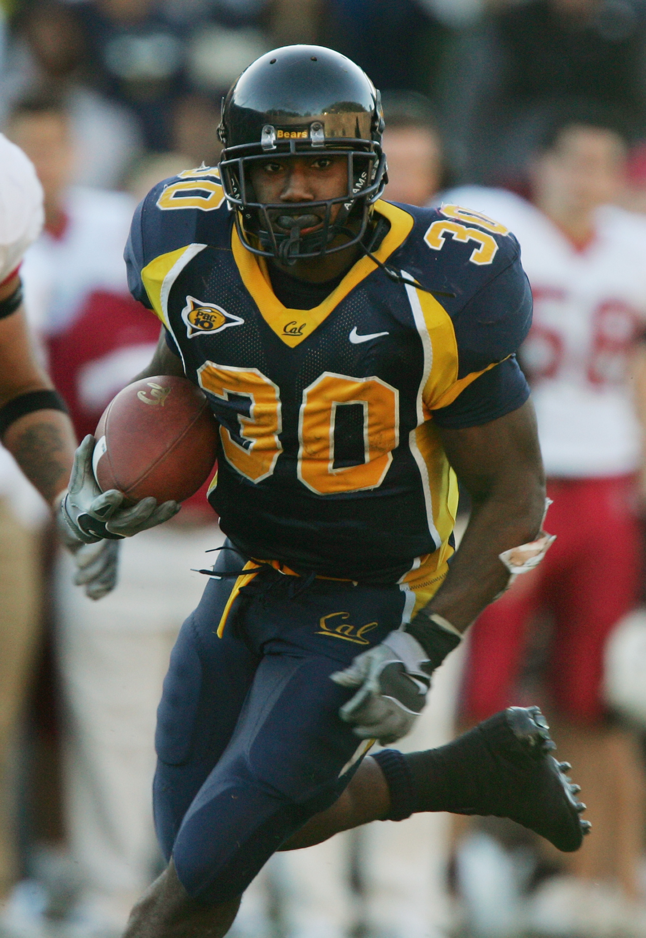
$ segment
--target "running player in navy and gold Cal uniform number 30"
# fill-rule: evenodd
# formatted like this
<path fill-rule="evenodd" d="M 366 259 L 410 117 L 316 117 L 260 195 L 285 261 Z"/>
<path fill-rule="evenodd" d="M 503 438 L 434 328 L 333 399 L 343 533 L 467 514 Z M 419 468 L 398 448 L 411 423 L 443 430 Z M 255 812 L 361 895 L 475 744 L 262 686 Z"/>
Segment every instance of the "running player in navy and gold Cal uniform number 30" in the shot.
<path fill-rule="evenodd" d="M 410 730 L 432 672 L 549 539 L 518 243 L 457 206 L 384 202 L 382 131 L 349 59 L 267 53 L 224 102 L 219 172 L 160 184 L 132 223 L 130 288 L 162 323 L 144 375 L 203 388 L 230 540 L 173 650 L 155 781 L 170 862 L 128 938 L 224 935 L 275 851 L 369 820 L 503 814 L 563 850 L 587 826 L 536 709 L 365 758 Z M 94 446 L 63 516 L 88 541 L 128 535 L 148 507 L 98 492 Z M 458 552 L 456 473 L 474 505 Z"/>

